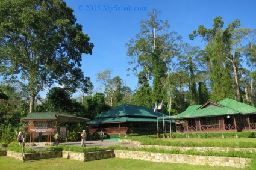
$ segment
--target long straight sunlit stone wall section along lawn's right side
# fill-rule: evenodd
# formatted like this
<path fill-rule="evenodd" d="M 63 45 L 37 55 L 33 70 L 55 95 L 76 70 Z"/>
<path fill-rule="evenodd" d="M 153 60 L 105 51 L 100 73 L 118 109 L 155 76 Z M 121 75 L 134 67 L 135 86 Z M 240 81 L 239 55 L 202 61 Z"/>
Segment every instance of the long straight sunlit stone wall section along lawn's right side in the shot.
<path fill-rule="evenodd" d="M 230 166 L 245 168 L 251 159 L 237 157 L 193 156 L 182 154 L 149 153 L 140 151 L 115 150 L 116 157 L 146 160 L 151 162 L 188 163 L 192 165 Z"/>

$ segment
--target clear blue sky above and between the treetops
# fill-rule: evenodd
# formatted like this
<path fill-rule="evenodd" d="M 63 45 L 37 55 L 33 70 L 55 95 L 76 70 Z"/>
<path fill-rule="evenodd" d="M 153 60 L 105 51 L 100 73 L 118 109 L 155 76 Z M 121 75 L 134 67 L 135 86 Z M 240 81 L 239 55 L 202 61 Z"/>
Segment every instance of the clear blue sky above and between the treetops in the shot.
<path fill-rule="evenodd" d="M 140 32 L 140 21 L 148 19 L 148 13 L 153 9 L 161 11 L 160 19 L 168 20 L 169 31 L 176 31 L 183 37 L 183 42 L 192 46 L 204 46 L 201 39 L 189 40 L 189 34 L 204 25 L 212 28 L 213 19 L 221 16 L 224 27 L 235 19 L 241 22 L 240 28 L 256 29 L 256 1 L 254 0 L 203 0 L 203 1 L 145 1 L 145 0 L 64 0 L 74 10 L 77 23 L 83 25 L 94 43 L 92 55 L 84 55 L 82 69 L 89 76 L 98 90 L 96 74 L 111 69 L 111 77 L 119 76 L 126 79 L 126 85 L 134 90 L 137 87 L 137 77 L 126 71 L 130 67 L 126 56 L 125 43 L 135 38 Z M 129 8 L 133 11 L 116 10 Z M 112 11 L 111 11 L 112 9 Z M 136 10 L 136 11 L 135 11 Z M 130 76 L 126 77 L 127 74 Z"/>

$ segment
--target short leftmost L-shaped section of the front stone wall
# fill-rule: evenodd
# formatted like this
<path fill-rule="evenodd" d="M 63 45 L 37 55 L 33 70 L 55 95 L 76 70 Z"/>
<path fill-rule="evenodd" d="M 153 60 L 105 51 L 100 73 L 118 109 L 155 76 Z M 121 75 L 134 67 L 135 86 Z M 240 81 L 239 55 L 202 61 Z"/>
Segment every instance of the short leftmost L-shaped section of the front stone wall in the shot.
<path fill-rule="evenodd" d="M 14 151 L 7 151 L 6 156 L 13 157 L 15 159 L 22 160 L 22 153 L 16 153 Z M 24 160 L 38 160 L 38 159 L 48 159 L 62 157 L 62 151 L 46 151 L 40 153 L 25 153 Z"/>

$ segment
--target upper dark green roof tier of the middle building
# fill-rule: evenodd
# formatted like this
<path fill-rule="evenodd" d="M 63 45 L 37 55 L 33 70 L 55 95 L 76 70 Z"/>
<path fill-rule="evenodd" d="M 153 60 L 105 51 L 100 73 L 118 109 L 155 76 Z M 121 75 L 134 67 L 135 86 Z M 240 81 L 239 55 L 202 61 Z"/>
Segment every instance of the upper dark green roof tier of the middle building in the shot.
<path fill-rule="evenodd" d="M 156 113 L 153 109 L 145 106 L 136 105 L 120 105 L 116 108 L 110 109 L 95 118 L 107 118 L 107 117 L 119 117 L 119 116 L 139 116 L 139 117 L 156 117 Z"/>

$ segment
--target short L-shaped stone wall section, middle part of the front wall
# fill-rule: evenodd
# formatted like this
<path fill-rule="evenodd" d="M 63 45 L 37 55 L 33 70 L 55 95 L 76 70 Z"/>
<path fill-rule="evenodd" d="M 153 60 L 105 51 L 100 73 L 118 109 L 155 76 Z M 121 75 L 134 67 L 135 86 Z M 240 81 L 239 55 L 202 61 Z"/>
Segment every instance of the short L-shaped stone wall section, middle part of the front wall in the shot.
<path fill-rule="evenodd" d="M 111 157 L 115 157 L 114 150 L 108 151 L 96 151 L 91 153 L 77 153 L 72 151 L 62 151 L 62 157 L 73 160 L 80 161 L 90 161 L 90 160 L 98 160 L 98 159 L 107 159 Z"/>

